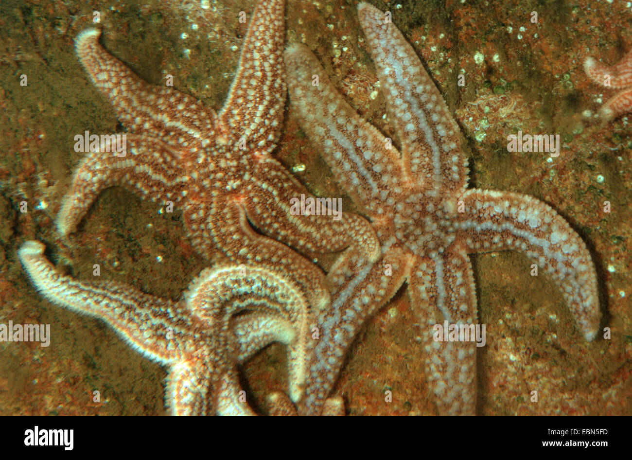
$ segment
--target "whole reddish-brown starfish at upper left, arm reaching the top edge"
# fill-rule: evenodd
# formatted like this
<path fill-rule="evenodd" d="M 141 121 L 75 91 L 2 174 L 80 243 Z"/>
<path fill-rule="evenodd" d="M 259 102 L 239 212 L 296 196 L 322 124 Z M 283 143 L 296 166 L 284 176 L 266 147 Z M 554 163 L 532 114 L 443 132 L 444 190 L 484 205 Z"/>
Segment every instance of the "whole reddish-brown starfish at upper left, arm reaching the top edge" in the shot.
<path fill-rule="evenodd" d="M 317 308 L 329 303 L 324 275 L 278 241 L 301 251 L 350 247 L 370 260 L 379 257 L 375 233 L 362 217 L 344 213 L 334 221 L 331 215 L 289 212 L 290 199 L 307 190 L 270 155 L 286 92 L 283 5 L 282 0 L 258 4 L 219 114 L 172 88 L 143 82 L 99 45 L 96 30 L 77 37 L 76 52 L 90 79 L 133 134 L 127 136 L 125 157 L 91 152 L 82 160 L 58 215 L 61 234 L 76 228 L 101 190 L 125 186 L 142 197 L 173 201 L 203 255 L 219 252 L 233 262 L 287 275 Z"/>

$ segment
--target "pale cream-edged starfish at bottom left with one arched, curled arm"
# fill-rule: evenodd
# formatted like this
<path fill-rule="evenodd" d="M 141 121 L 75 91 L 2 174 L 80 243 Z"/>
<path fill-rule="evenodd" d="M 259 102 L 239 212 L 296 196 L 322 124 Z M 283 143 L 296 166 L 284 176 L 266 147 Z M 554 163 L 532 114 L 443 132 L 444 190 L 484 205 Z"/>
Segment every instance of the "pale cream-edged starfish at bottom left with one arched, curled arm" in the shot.
<path fill-rule="evenodd" d="M 288 345 L 290 395 L 300 397 L 311 320 L 307 301 L 288 279 L 256 265 L 214 267 L 173 302 L 125 284 L 59 275 L 39 241 L 27 241 L 18 255 L 48 300 L 104 320 L 136 351 L 169 367 L 173 415 L 253 415 L 240 401 L 236 365 L 272 341 Z M 252 313 L 233 318 L 244 310 Z M 236 319 L 240 337 L 231 329 Z"/>

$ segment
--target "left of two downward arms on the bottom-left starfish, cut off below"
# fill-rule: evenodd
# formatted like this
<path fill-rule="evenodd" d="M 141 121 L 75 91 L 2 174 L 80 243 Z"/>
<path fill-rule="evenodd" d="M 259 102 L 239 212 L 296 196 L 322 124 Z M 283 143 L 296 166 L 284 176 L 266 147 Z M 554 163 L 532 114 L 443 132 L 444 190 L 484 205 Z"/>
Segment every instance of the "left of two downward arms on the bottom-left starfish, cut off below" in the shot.
<path fill-rule="evenodd" d="M 207 391 L 210 385 L 204 375 L 205 372 L 196 371 L 196 366 L 190 361 L 178 361 L 171 367 L 166 392 L 171 415 L 207 415 Z"/>

